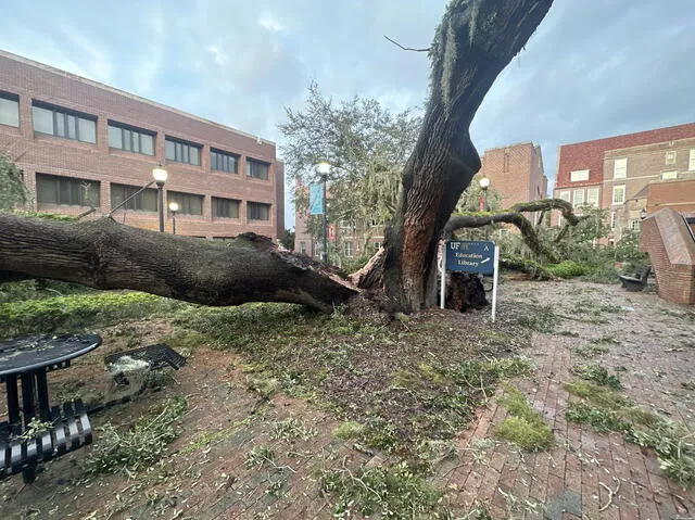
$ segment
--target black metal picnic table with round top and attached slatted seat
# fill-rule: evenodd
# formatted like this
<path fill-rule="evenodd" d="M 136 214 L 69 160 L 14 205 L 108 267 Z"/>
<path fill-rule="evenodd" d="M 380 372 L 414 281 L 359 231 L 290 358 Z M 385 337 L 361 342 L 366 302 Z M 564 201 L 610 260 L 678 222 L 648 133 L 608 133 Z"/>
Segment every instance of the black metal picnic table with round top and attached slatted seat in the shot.
<path fill-rule="evenodd" d="M 91 443 L 81 402 L 51 407 L 47 375 L 100 344 L 98 334 L 39 334 L 0 343 L 0 382 L 8 403 L 8 420 L 0 422 L 0 479 L 22 471 L 31 482 L 40 462 Z M 33 429 L 37 420 L 39 428 Z"/>

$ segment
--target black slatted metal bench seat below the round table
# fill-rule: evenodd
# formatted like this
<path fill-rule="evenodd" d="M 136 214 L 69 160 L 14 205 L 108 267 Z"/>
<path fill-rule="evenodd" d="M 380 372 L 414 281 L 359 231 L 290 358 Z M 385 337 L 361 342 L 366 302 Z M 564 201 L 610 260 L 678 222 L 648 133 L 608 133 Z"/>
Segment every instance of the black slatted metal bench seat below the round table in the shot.
<path fill-rule="evenodd" d="M 49 422 L 49 421 L 47 421 Z M 51 426 L 35 436 L 25 437 L 0 423 L 0 480 L 23 473 L 26 482 L 36 477 L 37 465 L 91 444 L 92 429 L 80 399 L 53 406 Z"/>

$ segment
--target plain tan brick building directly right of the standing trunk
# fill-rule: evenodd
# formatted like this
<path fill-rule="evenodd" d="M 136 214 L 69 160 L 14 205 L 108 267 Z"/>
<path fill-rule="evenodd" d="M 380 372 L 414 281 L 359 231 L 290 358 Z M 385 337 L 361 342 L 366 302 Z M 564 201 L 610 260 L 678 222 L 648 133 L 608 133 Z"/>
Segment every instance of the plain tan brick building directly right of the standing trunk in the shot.
<path fill-rule="evenodd" d="M 502 207 L 547 198 L 541 147 L 531 142 L 485 150 L 478 175 L 502 195 Z"/>

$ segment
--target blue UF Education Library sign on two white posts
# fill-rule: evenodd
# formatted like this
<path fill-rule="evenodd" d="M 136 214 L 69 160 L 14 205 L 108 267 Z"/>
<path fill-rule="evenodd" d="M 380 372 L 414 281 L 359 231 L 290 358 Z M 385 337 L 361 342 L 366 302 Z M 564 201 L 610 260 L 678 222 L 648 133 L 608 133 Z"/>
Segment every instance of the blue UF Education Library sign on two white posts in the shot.
<path fill-rule="evenodd" d="M 489 240 L 450 240 L 444 243 L 441 266 L 441 308 L 446 294 L 446 271 L 493 275 L 492 322 L 497 310 L 497 281 L 500 271 L 500 248 Z"/>

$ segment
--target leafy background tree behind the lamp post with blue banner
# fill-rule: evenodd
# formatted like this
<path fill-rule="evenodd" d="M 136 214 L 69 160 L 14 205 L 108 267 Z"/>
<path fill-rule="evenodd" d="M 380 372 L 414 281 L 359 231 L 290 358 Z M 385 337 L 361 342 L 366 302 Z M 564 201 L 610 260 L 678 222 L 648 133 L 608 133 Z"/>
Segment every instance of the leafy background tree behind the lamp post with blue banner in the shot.
<path fill-rule="evenodd" d="M 417 140 L 422 119 L 414 111 L 392 114 L 368 98 L 354 97 L 334 103 L 318 85 L 308 86 L 300 111 L 286 109 L 287 122 L 279 126 L 285 172 L 295 180 L 298 211 L 308 207 L 311 183 L 323 179 L 316 164 L 331 165 L 328 220 L 387 223 L 395 212 L 401 173 Z M 296 181 L 299 180 L 299 185 Z M 308 219 L 307 231 L 318 238 L 321 218 Z"/>

